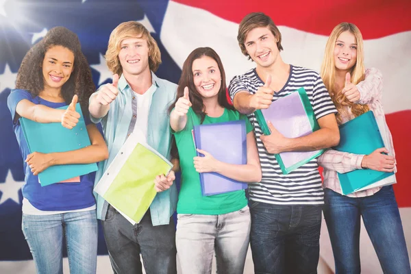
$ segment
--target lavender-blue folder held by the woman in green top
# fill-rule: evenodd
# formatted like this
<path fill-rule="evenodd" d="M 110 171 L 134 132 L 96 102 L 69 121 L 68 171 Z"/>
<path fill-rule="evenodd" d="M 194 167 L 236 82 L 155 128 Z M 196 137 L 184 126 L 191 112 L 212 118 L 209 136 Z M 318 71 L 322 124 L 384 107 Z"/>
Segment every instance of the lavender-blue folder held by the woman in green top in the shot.
<path fill-rule="evenodd" d="M 221 162 L 247 164 L 247 132 L 245 121 L 231 121 L 194 126 L 195 147 L 203 149 Z M 201 156 L 201 153 L 197 152 Z M 243 190 L 247 184 L 219 173 L 200 173 L 203 196 Z"/>

